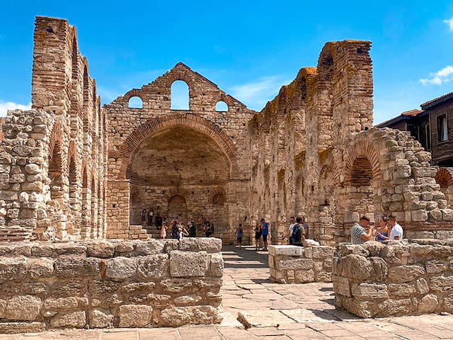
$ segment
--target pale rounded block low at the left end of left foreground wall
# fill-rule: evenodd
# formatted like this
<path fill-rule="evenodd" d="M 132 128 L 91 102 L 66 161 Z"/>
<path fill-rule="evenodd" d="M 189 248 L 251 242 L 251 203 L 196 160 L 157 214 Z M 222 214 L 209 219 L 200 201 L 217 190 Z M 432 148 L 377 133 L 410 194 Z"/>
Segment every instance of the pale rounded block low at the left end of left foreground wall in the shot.
<path fill-rule="evenodd" d="M 16 295 L 8 300 L 5 317 L 9 320 L 33 321 L 40 314 L 41 299 L 32 295 Z"/>

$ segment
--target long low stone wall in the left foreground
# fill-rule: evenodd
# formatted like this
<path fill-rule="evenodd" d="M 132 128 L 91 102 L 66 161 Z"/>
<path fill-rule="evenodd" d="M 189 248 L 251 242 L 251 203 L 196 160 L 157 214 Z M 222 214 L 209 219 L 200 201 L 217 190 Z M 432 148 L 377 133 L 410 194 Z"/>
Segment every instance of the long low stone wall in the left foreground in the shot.
<path fill-rule="evenodd" d="M 222 320 L 219 239 L 0 244 L 0 332 Z"/>

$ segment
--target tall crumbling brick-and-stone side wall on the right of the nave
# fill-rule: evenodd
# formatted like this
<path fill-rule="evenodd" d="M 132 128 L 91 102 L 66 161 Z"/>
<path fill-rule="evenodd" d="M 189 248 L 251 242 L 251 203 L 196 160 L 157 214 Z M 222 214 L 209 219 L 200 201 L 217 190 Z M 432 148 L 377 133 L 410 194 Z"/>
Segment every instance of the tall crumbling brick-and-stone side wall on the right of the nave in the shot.
<path fill-rule="evenodd" d="M 328 42 L 317 67 L 301 69 L 248 124 L 250 214 L 268 217 L 273 244 L 286 242 L 297 215 L 309 237 L 331 246 L 349 239 L 360 215 L 396 215 L 409 238 L 452 235 L 449 191 L 430 153 L 405 132 L 372 128 L 369 48 Z"/>

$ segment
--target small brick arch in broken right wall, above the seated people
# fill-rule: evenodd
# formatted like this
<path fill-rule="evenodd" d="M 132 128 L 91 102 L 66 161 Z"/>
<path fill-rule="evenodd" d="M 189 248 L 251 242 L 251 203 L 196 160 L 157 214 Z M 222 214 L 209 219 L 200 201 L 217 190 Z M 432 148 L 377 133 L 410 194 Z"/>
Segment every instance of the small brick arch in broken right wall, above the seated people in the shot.
<path fill-rule="evenodd" d="M 352 169 L 356 159 L 368 160 L 369 171 L 372 174 L 373 181 L 379 181 L 382 178 L 379 153 L 367 140 L 360 140 L 348 151 L 345 162 L 345 183 L 351 183 L 352 181 Z"/>

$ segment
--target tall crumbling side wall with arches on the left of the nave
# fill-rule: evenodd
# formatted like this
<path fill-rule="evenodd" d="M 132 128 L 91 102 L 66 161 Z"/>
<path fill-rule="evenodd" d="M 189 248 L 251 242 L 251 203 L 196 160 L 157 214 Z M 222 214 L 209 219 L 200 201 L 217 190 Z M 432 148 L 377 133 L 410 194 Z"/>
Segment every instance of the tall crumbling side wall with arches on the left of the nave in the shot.
<path fill-rule="evenodd" d="M 66 20 L 38 16 L 34 42 L 33 111 L 9 111 L 2 126 L 2 238 L 105 237 L 107 135 L 96 82 Z"/>

